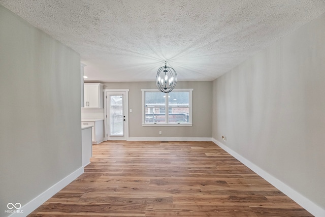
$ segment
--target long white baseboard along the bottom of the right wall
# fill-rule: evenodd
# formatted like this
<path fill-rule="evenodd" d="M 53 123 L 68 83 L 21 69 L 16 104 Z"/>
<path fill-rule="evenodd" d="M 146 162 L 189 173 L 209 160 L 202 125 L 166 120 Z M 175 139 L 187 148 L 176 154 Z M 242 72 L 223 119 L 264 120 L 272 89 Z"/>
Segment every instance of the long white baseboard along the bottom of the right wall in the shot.
<path fill-rule="evenodd" d="M 249 169 L 254 171 L 257 175 L 261 176 L 268 182 L 270 182 L 275 188 L 279 189 L 281 192 L 283 192 L 285 195 L 287 195 L 289 198 L 293 199 L 296 203 L 304 207 L 307 211 L 309 211 L 311 214 L 315 215 L 316 217 L 325 216 L 325 210 L 322 209 L 320 206 L 316 205 L 312 201 L 310 201 L 305 196 L 301 195 L 294 189 L 291 189 L 288 185 L 277 179 L 276 177 L 272 176 L 268 172 L 264 171 L 263 169 L 259 168 L 252 162 L 248 161 L 244 157 L 242 157 L 240 154 L 238 154 L 236 151 L 232 150 L 231 148 L 227 147 L 226 145 L 222 144 L 218 140 L 212 138 L 212 141 L 221 147 L 223 150 L 231 154 L 234 158 L 236 158 L 238 161 L 243 163 L 245 166 L 247 166 Z"/>

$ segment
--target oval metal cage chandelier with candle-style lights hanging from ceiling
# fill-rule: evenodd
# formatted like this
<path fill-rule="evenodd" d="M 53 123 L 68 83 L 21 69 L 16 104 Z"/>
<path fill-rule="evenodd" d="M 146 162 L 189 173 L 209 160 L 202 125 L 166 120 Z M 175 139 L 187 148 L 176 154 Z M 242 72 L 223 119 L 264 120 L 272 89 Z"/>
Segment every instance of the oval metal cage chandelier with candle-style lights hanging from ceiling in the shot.
<path fill-rule="evenodd" d="M 168 67 L 165 61 L 165 66 L 160 67 L 156 76 L 156 85 L 161 92 L 170 92 L 174 89 L 177 83 L 177 74 L 172 67 Z"/>

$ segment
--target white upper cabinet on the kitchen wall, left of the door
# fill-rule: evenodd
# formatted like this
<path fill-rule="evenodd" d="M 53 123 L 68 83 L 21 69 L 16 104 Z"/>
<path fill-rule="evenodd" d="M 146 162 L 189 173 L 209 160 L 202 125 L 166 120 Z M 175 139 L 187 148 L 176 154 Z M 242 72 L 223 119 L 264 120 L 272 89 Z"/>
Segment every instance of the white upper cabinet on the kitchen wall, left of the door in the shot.
<path fill-rule="evenodd" d="M 103 108 L 103 86 L 101 83 L 84 84 L 85 108 Z"/>

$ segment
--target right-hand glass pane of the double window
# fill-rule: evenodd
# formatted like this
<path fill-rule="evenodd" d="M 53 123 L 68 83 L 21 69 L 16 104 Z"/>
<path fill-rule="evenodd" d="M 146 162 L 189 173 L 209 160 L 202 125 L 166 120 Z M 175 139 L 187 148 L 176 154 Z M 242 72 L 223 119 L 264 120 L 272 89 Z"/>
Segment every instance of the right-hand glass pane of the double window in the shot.
<path fill-rule="evenodd" d="M 189 118 L 189 92 L 174 91 L 168 96 L 168 122 L 184 123 Z"/>

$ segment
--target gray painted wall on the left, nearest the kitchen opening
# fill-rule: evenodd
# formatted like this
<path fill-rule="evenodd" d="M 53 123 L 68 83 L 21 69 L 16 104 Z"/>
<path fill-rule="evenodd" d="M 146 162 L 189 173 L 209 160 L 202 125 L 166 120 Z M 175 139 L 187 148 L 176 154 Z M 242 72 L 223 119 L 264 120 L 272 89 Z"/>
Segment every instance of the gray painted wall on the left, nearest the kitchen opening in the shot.
<path fill-rule="evenodd" d="M 80 56 L 0 6 L 0 215 L 82 166 Z"/>

